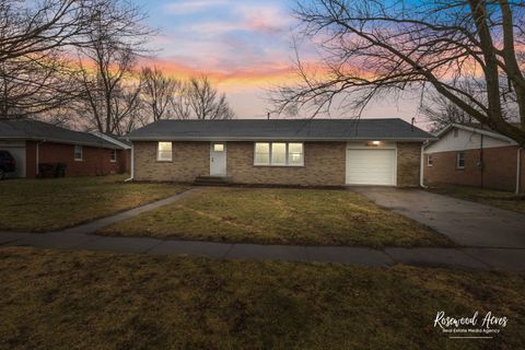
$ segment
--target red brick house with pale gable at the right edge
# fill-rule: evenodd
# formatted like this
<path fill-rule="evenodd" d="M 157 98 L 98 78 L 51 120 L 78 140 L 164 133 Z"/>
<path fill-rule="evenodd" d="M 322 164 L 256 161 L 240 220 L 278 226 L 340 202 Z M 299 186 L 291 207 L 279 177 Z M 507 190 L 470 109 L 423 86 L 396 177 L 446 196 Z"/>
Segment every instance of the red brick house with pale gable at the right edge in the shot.
<path fill-rule="evenodd" d="M 427 184 L 525 191 L 525 152 L 480 125 L 452 124 L 424 148 Z"/>

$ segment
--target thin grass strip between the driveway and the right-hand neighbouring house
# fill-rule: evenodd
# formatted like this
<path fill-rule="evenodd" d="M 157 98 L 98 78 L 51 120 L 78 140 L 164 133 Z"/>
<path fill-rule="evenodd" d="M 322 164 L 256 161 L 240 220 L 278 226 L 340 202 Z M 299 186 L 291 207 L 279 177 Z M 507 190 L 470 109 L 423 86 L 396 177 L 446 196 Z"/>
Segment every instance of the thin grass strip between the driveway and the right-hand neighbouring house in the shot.
<path fill-rule="evenodd" d="M 479 202 L 500 209 L 525 213 L 525 195 L 467 186 L 433 185 L 430 191 Z"/>

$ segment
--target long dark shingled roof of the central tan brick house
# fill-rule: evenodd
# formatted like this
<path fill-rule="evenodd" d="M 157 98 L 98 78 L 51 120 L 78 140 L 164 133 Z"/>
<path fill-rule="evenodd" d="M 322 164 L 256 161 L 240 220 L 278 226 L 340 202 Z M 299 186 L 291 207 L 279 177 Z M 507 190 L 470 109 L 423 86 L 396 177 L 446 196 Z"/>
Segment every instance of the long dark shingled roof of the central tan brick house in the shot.
<path fill-rule="evenodd" d="M 404 140 L 434 137 L 402 119 L 159 120 L 128 135 L 131 141 Z"/>

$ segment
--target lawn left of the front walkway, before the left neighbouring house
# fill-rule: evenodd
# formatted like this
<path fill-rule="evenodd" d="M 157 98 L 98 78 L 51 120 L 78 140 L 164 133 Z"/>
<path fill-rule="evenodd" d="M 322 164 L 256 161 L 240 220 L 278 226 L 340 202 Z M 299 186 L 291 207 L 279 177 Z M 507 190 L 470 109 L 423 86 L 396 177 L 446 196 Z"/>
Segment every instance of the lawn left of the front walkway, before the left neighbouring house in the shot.
<path fill-rule="evenodd" d="M 0 182 L 0 231 L 47 232 L 170 197 L 168 184 L 125 184 L 126 176 Z"/>

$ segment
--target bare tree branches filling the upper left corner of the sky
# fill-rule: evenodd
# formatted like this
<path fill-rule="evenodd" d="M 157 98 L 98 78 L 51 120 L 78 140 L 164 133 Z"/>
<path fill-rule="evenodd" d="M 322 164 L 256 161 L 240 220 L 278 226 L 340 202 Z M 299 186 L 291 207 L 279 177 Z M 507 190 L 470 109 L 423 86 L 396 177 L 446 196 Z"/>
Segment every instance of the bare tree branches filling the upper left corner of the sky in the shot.
<path fill-rule="evenodd" d="M 65 55 L 88 33 L 92 0 L 0 0 L 0 117 L 50 113 L 71 97 Z"/>

